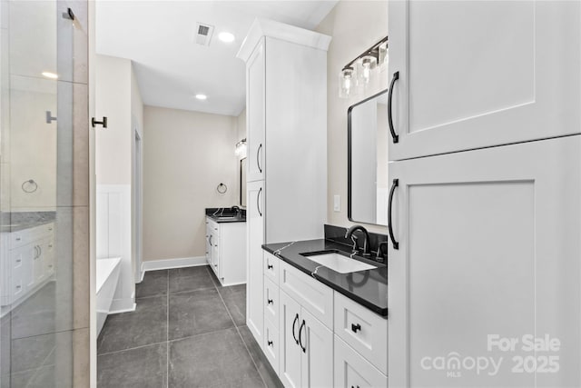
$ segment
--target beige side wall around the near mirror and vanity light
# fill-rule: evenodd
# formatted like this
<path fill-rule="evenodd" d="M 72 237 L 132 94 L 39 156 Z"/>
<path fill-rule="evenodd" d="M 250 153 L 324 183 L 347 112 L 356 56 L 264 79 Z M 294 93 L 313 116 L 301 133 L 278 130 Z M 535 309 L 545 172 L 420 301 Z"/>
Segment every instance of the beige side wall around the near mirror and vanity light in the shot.
<path fill-rule="evenodd" d="M 327 222 L 350 226 L 347 217 L 347 109 L 387 88 L 387 72 L 379 82 L 360 95 L 339 98 L 339 72 L 344 65 L 369 46 L 388 35 L 388 2 L 342 0 L 331 10 L 316 31 L 333 39 L 327 56 Z M 333 195 L 340 194 L 340 212 L 333 211 Z M 366 225 L 369 231 L 386 234 L 383 226 Z"/>

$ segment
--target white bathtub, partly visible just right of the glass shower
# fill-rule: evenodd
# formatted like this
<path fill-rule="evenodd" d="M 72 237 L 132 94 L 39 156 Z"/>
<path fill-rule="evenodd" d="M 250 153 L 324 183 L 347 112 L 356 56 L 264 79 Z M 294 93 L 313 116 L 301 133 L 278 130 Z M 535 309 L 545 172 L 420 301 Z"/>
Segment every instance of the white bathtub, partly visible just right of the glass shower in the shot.
<path fill-rule="evenodd" d="M 120 257 L 97 259 L 97 335 L 101 333 L 101 329 L 103 329 L 103 324 L 111 308 L 120 272 Z"/>

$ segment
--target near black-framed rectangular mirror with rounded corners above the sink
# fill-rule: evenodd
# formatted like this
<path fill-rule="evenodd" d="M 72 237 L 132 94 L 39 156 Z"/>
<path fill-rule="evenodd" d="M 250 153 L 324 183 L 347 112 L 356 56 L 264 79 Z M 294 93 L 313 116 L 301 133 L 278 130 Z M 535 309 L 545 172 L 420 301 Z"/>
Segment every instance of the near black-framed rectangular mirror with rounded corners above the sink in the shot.
<path fill-rule="evenodd" d="M 350 221 L 388 224 L 388 95 L 373 95 L 348 110 Z"/>

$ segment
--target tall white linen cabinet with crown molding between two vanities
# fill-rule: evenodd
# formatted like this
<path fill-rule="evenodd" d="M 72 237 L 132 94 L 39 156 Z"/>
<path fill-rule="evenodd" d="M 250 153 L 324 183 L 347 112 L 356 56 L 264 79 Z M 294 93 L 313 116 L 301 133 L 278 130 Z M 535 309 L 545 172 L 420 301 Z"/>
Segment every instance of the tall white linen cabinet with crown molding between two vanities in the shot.
<path fill-rule="evenodd" d="M 330 36 L 257 19 L 246 64 L 248 285 L 246 319 L 264 342 L 262 244 L 321 238 L 327 217 Z"/>

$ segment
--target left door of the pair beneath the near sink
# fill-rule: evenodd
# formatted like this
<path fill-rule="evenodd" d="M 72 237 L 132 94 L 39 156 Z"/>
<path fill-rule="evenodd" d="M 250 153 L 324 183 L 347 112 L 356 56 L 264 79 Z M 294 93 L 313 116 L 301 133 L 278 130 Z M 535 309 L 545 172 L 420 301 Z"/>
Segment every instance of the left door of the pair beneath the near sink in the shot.
<path fill-rule="evenodd" d="M 279 341 L 279 377 L 285 387 L 300 387 L 300 304 L 281 291 L 281 326 Z"/>

